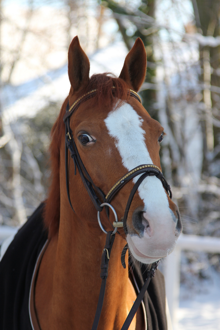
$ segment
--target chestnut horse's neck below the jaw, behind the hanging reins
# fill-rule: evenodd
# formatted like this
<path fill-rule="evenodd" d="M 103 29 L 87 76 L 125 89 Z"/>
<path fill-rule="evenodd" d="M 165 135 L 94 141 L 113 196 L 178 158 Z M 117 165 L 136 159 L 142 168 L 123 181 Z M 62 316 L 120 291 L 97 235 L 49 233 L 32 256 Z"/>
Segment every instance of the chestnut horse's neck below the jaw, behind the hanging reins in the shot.
<path fill-rule="evenodd" d="M 53 289 L 56 325 L 62 319 L 60 326 L 65 326 L 65 329 L 90 329 L 101 286 L 100 266 L 106 234 L 100 230 L 97 220 L 94 225 L 93 222 L 80 219 L 68 205 L 61 205 L 60 214 L 53 277 L 56 289 L 56 292 Z M 97 217 L 96 211 L 93 217 Z M 99 329 L 121 328 L 131 307 L 130 301 L 135 298 L 128 279 L 128 267 L 123 269 L 120 261 L 124 245 L 125 242 L 116 235 Z M 63 324 L 63 320 L 67 323 Z"/>

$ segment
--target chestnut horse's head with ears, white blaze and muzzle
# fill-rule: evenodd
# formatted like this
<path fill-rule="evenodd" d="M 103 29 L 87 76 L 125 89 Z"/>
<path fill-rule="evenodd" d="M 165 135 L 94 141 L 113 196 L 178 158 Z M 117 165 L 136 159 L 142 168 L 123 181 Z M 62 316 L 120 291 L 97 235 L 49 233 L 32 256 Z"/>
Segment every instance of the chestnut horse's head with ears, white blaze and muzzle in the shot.
<path fill-rule="evenodd" d="M 74 148 L 80 157 L 79 167 L 83 174 L 85 171 L 88 173 L 95 194 L 104 202 L 111 187 L 118 182 L 121 184 L 123 180 L 120 178 L 125 174 L 131 174 L 132 170 L 139 171 L 140 165 L 150 164 L 155 167 L 157 174 L 161 172 L 159 151 L 165 133 L 160 123 L 149 116 L 136 94 L 146 72 L 146 52 L 140 38 L 126 56 L 119 78 L 110 74 L 98 74 L 89 78 L 89 68 L 88 57 L 80 47 L 78 37 L 75 37 L 68 52 L 71 88 L 55 127 L 58 126 L 60 118 L 65 116 L 66 107 L 67 113 L 74 109 L 71 116 L 67 115 L 71 130 L 71 135 L 67 132 L 67 143 L 74 140 Z M 59 182 L 53 181 L 52 187 L 55 189 L 55 185 L 60 184 L 60 191 L 63 193 L 57 194 L 57 205 L 60 198 L 60 212 L 67 215 L 73 211 L 65 204 L 67 193 L 64 192 L 64 130 L 64 126 L 60 126 L 56 131 L 62 134 L 56 133 L 53 137 L 54 145 L 58 140 L 61 143 L 54 153 L 57 155 L 60 150 L 60 170 L 59 173 L 56 170 L 57 176 L 55 175 L 59 176 Z M 83 226 L 89 227 L 89 230 L 94 229 L 101 235 L 97 211 L 70 156 L 67 172 L 69 198 L 74 216 L 81 223 L 83 220 Z M 119 220 L 124 218 L 130 193 L 140 176 L 139 172 L 136 176 L 132 174 L 132 179 L 124 185 L 121 184 L 121 188 L 111 198 L 110 204 Z M 145 264 L 171 253 L 182 230 L 178 208 L 157 176 L 146 176 L 139 184 L 127 212 L 124 230 L 118 229 L 133 256 Z M 52 203 L 50 196 L 48 201 Z M 62 205 L 66 206 L 62 208 Z M 47 207 L 46 221 L 47 215 L 51 218 L 53 212 L 48 209 Z M 54 210 L 57 210 L 55 205 Z M 114 215 L 110 211 L 108 217 L 108 212 L 103 211 L 101 221 L 106 231 L 112 230 Z M 49 225 L 51 228 L 56 227 L 48 222 Z"/>

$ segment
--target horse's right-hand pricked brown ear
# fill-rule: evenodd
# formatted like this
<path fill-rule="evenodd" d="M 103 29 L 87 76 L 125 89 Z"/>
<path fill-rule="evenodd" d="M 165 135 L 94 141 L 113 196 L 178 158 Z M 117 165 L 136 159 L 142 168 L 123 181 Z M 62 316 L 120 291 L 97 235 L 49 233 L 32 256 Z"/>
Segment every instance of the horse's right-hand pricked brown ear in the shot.
<path fill-rule="evenodd" d="M 119 78 L 128 83 L 129 87 L 137 92 L 145 79 L 147 67 L 146 51 L 140 38 L 125 58 Z"/>

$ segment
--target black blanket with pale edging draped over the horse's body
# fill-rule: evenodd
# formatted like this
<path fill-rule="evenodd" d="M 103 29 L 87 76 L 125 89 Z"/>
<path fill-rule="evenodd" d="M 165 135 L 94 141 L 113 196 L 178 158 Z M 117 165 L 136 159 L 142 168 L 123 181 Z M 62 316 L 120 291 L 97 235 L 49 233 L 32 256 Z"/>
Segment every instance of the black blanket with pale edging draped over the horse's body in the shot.
<path fill-rule="evenodd" d="M 30 312 L 30 288 L 39 255 L 47 242 L 42 211 L 44 204 L 19 229 L 0 262 L 0 329 L 37 330 Z M 133 276 L 141 289 L 145 268 L 134 266 Z M 151 279 L 143 303 L 147 330 L 167 330 L 165 285 L 159 270 Z"/>

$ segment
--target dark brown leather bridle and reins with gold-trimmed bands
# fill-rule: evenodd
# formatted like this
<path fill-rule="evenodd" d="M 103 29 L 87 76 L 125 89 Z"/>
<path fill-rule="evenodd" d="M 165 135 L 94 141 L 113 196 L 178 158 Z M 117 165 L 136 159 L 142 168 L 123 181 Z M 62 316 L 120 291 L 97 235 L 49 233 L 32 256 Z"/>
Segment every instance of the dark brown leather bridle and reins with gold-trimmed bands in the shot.
<path fill-rule="evenodd" d="M 131 202 L 133 200 L 133 197 L 139 187 L 139 185 L 141 184 L 141 182 L 147 177 L 147 176 L 156 176 L 163 184 L 165 190 L 167 191 L 167 193 L 169 193 L 170 198 L 172 198 L 172 192 L 171 192 L 171 188 L 170 185 L 167 183 L 167 181 L 165 180 L 163 173 L 161 172 L 161 170 L 159 169 L 159 167 L 153 165 L 153 164 L 142 164 L 137 166 L 136 168 L 132 169 L 131 171 L 129 171 L 128 173 L 126 173 L 120 180 L 118 180 L 114 186 L 109 190 L 108 194 L 105 195 L 104 192 L 97 187 L 94 182 L 92 181 L 90 175 L 88 174 L 81 158 L 78 152 L 78 149 L 76 147 L 76 143 L 74 141 L 73 138 L 73 133 L 72 130 L 70 128 L 70 117 L 73 115 L 73 113 L 79 108 L 80 104 L 85 102 L 86 100 L 94 97 L 97 93 L 96 89 L 91 90 L 90 92 L 82 95 L 81 97 L 79 97 L 74 104 L 69 107 L 69 102 L 67 104 L 66 107 L 66 113 L 63 117 L 64 123 L 65 123 L 65 127 L 66 127 L 66 141 L 65 141 L 65 171 L 66 171 L 66 188 L 67 188 L 67 196 L 68 196 L 68 200 L 71 206 L 71 209 L 73 210 L 73 212 L 75 213 L 72 203 L 71 203 L 71 199 L 70 199 L 70 192 L 69 192 L 69 175 L 68 175 L 68 149 L 70 151 L 70 156 L 74 161 L 74 166 L 75 166 L 75 175 L 77 172 L 77 169 L 79 171 L 79 175 L 82 179 L 82 182 L 89 194 L 90 199 L 92 200 L 96 210 L 98 211 L 98 221 L 99 221 L 99 225 L 101 227 L 101 229 L 107 234 L 106 237 L 106 245 L 103 249 L 103 253 L 102 253 L 102 262 L 101 262 L 101 274 L 100 277 L 102 279 L 102 283 L 101 283 L 101 288 L 100 288 L 100 294 L 99 294 L 99 300 L 98 300 L 98 305 L 97 305 L 97 309 L 96 309 L 96 314 L 95 314 L 95 318 L 94 318 L 94 322 L 93 322 L 93 326 L 91 330 L 97 330 L 98 327 L 98 323 L 99 323 L 99 319 L 100 319 L 100 315 L 101 315 L 101 311 L 102 311 L 102 306 L 103 306 L 103 301 L 104 301 L 104 295 L 105 295 L 105 288 L 106 288 L 106 281 L 107 281 L 107 277 L 108 277 L 108 265 L 109 265 L 109 260 L 110 260 L 110 253 L 111 253 L 111 248 L 114 242 L 114 238 L 115 238 L 115 233 L 117 232 L 117 228 L 118 227 L 123 227 L 124 228 L 124 232 L 125 234 L 127 234 L 127 226 L 126 226 L 126 221 L 127 221 L 127 216 L 128 216 L 128 212 L 131 206 Z M 141 102 L 141 98 L 140 96 L 133 90 L 129 90 L 128 93 L 132 96 L 135 97 L 139 102 Z M 127 183 L 129 182 L 131 179 L 133 179 L 134 177 L 136 177 L 137 175 L 141 175 L 140 178 L 137 180 L 137 182 L 134 184 L 130 196 L 128 198 L 128 202 L 125 208 L 125 213 L 124 213 L 124 217 L 123 217 L 123 222 L 122 221 L 118 221 L 117 219 L 117 215 L 115 210 L 113 209 L 113 207 L 110 205 L 110 201 L 112 200 L 112 198 L 115 196 L 115 194 Z M 102 202 L 100 201 L 100 198 L 102 199 Z M 115 216 L 115 221 L 113 222 L 112 227 L 114 228 L 113 231 L 109 231 L 107 232 L 102 224 L 101 224 L 101 220 L 100 220 L 100 212 L 103 210 L 105 206 L 107 215 L 109 216 L 109 208 L 112 209 L 114 216 Z M 125 247 L 122 250 L 122 254 L 121 254 L 121 263 L 122 266 L 124 268 L 126 268 L 125 265 L 125 254 L 126 251 L 128 249 L 128 244 L 125 245 Z M 144 297 L 144 294 L 147 290 L 148 284 L 150 282 L 150 279 L 152 277 L 154 277 L 155 275 L 155 271 L 158 267 L 158 263 L 159 261 L 155 262 L 152 264 L 150 270 L 148 270 L 147 273 L 147 279 L 144 282 L 144 285 L 141 288 L 141 291 L 139 292 L 134 305 L 132 306 L 121 330 L 127 330 L 141 304 L 141 301 Z"/>

